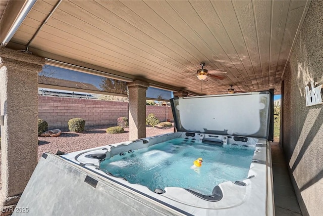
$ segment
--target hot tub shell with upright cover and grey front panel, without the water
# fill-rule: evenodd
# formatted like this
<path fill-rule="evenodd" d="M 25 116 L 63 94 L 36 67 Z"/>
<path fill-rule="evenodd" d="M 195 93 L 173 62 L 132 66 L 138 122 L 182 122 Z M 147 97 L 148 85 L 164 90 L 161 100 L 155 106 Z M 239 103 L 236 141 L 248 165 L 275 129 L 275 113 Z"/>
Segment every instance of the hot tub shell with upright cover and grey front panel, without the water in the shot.
<path fill-rule="evenodd" d="M 172 99 L 177 133 L 61 156 L 44 153 L 17 208 L 29 207 L 29 212 L 25 212 L 28 215 L 274 215 L 271 148 L 268 142 L 270 94 L 239 95 L 231 98 Z M 205 100 L 206 104 L 201 103 Z M 236 106 L 235 103 L 247 113 L 241 114 L 236 111 L 237 108 L 229 108 L 229 111 L 220 109 L 220 105 L 232 107 Z M 250 109 L 248 104 L 256 108 Z M 206 113 L 193 113 L 192 109 L 199 110 L 203 106 L 209 109 Z M 188 108 L 182 112 L 183 107 Z M 223 112 L 231 112 L 230 117 L 223 117 Z M 248 112 L 253 112 L 253 115 Z M 246 127 L 245 118 L 251 118 L 248 122 L 251 126 Z M 196 123 L 206 119 L 211 120 L 204 126 Z M 217 123 L 209 122 L 213 119 L 214 122 L 217 119 Z M 240 182 L 221 183 L 209 195 L 194 194 L 175 187 L 155 193 L 143 185 L 130 184 L 123 178 L 114 177 L 109 170 L 98 169 L 102 159 L 175 138 L 255 147 L 248 177 Z"/>

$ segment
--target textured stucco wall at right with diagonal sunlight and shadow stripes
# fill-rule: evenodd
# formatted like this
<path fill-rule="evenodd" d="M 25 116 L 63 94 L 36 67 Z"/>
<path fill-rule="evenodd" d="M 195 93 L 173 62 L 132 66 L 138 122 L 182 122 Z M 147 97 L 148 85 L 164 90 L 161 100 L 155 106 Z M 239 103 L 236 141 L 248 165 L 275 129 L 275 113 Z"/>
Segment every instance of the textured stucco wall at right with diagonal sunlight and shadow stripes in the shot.
<path fill-rule="evenodd" d="M 304 215 L 323 212 L 323 105 L 305 106 L 305 86 L 323 84 L 323 1 L 312 1 L 284 74 L 283 146 Z"/>

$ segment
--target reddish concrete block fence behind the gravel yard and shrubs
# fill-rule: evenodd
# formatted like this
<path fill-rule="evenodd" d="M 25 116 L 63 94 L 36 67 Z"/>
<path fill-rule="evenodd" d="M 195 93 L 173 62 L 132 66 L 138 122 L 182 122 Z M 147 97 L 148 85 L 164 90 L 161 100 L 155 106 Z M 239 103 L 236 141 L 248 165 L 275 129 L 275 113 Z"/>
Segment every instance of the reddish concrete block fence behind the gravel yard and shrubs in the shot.
<path fill-rule="evenodd" d="M 146 106 L 146 115 L 154 113 L 160 121 L 173 121 L 171 107 Z M 67 128 L 71 118 L 83 118 L 86 125 L 117 125 L 119 117 L 128 117 L 128 102 L 38 96 L 38 118 L 48 128 Z"/>

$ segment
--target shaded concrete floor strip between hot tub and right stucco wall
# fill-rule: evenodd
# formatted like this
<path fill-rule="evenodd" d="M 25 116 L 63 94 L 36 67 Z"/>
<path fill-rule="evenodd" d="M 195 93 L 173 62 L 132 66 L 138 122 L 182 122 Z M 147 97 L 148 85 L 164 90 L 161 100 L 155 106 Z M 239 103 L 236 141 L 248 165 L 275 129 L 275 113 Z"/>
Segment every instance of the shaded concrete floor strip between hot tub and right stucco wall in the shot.
<path fill-rule="evenodd" d="M 302 215 L 289 177 L 283 149 L 279 143 L 272 143 L 274 176 L 274 200 L 276 216 Z"/>

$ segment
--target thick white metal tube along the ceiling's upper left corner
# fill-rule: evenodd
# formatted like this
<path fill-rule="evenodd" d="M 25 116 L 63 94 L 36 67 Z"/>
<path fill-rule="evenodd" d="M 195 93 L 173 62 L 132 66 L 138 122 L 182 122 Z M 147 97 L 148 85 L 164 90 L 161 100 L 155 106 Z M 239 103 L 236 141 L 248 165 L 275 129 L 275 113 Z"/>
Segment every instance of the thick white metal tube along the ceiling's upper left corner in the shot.
<path fill-rule="evenodd" d="M 37 0 L 28 0 L 25 2 L 24 6 L 22 7 L 21 11 L 19 12 L 18 16 L 16 17 L 14 24 L 9 29 L 5 39 L 1 42 L 1 46 L 7 46 L 8 42 L 11 38 L 15 35 L 16 31 L 22 24 L 22 22 L 27 17 L 28 13 L 31 11 L 32 7 L 35 5 Z"/>

